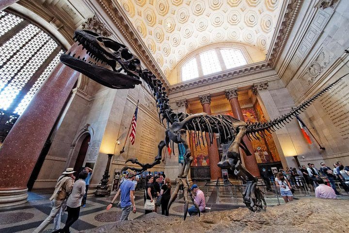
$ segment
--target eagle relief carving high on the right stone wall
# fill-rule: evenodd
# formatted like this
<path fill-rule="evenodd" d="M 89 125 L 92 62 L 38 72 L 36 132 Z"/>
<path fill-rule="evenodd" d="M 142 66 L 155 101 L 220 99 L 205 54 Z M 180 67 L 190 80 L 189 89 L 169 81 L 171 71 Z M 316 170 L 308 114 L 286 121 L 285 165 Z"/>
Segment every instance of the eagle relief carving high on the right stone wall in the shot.
<path fill-rule="evenodd" d="M 324 71 L 333 60 L 333 57 L 320 51 L 315 60 L 307 67 L 307 71 L 302 77 L 302 80 L 307 81 L 308 85 L 314 83 L 317 77 Z"/>

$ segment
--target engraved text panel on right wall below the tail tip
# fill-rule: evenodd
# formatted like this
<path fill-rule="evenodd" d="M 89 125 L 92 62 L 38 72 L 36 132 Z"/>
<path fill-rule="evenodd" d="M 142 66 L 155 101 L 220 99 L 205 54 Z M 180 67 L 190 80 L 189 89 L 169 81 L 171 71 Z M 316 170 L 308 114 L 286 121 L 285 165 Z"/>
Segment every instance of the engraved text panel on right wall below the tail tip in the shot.
<path fill-rule="evenodd" d="M 349 139 L 349 84 L 341 81 L 320 99 L 343 140 Z"/>

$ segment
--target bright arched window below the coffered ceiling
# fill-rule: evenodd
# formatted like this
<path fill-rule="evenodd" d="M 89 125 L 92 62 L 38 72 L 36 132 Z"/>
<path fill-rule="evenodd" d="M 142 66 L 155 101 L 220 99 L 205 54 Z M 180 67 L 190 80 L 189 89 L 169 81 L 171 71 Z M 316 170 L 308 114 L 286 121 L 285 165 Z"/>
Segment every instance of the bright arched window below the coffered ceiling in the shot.
<path fill-rule="evenodd" d="M 195 55 L 181 67 L 182 81 L 246 65 L 239 49 L 216 48 Z"/>

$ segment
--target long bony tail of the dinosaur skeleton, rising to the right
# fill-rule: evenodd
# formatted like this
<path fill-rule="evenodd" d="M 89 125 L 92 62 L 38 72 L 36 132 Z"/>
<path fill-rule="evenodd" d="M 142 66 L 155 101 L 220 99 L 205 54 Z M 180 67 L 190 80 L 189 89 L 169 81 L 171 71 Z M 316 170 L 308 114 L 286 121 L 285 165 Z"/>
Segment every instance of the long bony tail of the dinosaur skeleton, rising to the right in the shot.
<path fill-rule="evenodd" d="M 266 131 L 271 133 L 271 131 L 272 132 L 275 131 L 275 128 L 281 129 L 286 123 L 289 123 L 289 121 L 293 119 L 293 117 L 303 112 L 312 102 L 314 102 L 317 98 L 322 96 L 325 92 L 329 91 L 334 85 L 339 83 L 348 74 L 343 75 L 342 77 L 337 79 L 335 82 L 329 84 L 327 87 L 325 87 L 323 90 L 315 94 L 313 97 L 304 101 L 300 106 L 296 108 L 292 108 L 291 112 L 265 123 L 256 122 L 253 124 L 249 124 L 247 126 L 247 132 L 246 132 L 247 136 L 248 137 L 252 136 L 255 139 L 258 139 L 257 134 L 265 133 Z"/>

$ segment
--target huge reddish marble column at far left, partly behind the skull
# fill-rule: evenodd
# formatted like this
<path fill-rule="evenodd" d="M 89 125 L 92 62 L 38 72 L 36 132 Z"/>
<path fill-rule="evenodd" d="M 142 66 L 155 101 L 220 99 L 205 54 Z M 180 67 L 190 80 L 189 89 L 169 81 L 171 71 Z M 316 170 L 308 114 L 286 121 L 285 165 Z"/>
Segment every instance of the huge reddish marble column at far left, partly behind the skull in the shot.
<path fill-rule="evenodd" d="M 68 50 L 88 58 L 77 43 Z M 0 207 L 27 201 L 27 183 L 80 73 L 59 63 L 35 93 L 0 149 Z"/>

